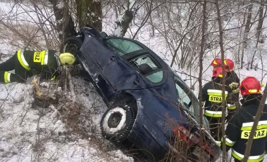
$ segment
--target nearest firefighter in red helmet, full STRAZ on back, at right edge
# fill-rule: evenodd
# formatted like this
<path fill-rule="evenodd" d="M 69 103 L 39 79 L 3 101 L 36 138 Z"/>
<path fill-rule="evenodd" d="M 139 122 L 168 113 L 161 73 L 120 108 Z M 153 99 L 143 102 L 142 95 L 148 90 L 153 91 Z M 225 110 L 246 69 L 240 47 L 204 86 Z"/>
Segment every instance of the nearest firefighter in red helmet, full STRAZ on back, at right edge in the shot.
<path fill-rule="evenodd" d="M 262 97 L 261 84 L 255 77 L 246 77 L 239 85 L 242 107 L 229 121 L 226 127 L 226 150 L 232 148 L 232 157 L 235 162 L 241 161 L 245 154 L 249 133 L 254 123 L 254 117 Z M 264 104 L 263 113 L 259 119 L 257 130 L 254 133 L 249 160 L 263 161 L 267 134 L 267 105 Z M 221 139 L 222 140 L 222 139 Z M 222 149 L 222 146 L 221 146 Z"/>

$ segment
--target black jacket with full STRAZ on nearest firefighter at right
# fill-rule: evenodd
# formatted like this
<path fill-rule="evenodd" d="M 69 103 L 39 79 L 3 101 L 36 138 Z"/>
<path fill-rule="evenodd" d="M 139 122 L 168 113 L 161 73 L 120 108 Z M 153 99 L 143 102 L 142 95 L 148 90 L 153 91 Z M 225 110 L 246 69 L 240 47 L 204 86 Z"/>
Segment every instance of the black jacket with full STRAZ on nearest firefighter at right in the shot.
<path fill-rule="evenodd" d="M 241 101 L 242 102 L 242 101 Z M 229 121 L 226 127 L 226 150 L 232 148 L 232 156 L 242 160 L 245 154 L 246 143 L 254 123 L 254 116 L 259 107 L 259 100 L 252 99 L 243 103 L 241 109 Z M 249 160 L 259 162 L 264 159 L 265 143 L 267 134 L 267 105 L 264 105 L 257 130 L 254 134 Z M 222 147 L 222 146 L 221 146 Z"/>

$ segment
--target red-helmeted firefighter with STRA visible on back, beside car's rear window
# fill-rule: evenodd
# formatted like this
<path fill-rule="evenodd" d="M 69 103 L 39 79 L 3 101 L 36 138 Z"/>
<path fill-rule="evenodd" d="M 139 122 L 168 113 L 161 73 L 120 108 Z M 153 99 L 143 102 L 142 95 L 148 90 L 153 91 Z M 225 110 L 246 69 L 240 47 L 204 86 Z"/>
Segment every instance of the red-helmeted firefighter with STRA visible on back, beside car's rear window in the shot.
<path fill-rule="evenodd" d="M 202 106 L 204 106 L 204 116 L 208 119 L 213 138 L 220 144 L 221 134 L 220 123 L 222 118 L 222 66 L 213 69 L 212 81 L 206 83 L 202 88 Z M 226 75 L 226 72 L 225 74 Z M 228 109 L 234 109 L 230 97 L 232 92 L 229 86 L 225 86 L 225 99 Z"/>

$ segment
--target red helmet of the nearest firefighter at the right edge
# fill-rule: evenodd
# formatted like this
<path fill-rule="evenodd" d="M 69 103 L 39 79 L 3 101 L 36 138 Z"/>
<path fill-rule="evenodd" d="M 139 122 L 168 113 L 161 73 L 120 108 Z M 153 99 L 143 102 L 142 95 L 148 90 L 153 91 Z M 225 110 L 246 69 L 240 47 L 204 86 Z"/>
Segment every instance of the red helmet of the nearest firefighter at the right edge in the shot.
<path fill-rule="evenodd" d="M 246 77 L 239 85 L 242 96 L 249 94 L 261 94 L 261 84 L 253 76 Z"/>

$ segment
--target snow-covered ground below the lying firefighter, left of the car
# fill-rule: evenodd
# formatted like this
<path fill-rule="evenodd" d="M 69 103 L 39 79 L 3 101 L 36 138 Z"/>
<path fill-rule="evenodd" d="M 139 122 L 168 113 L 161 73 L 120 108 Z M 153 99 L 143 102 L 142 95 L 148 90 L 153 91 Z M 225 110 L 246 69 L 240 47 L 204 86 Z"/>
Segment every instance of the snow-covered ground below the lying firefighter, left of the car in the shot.
<path fill-rule="evenodd" d="M 76 88 L 76 92 L 80 91 L 77 98 L 86 108 L 95 111 L 87 115 L 93 116 L 92 125 L 96 125 L 97 131 L 91 131 L 101 139 L 100 115 L 97 114 L 102 113 L 98 107 L 105 106 L 92 86 L 82 88 L 85 85 L 80 85 Z M 54 91 L 62 93 L 61 88 Z M 83 139 L 72 133 L 59 119 L 60 110 L 56 105 L 42 108 L 33 103 L 32 84 L 0 84 L 0 161 L 133 161 L 118 149 L 103 150 L 108 145 L 103 138 L 102 141 Z"/>

